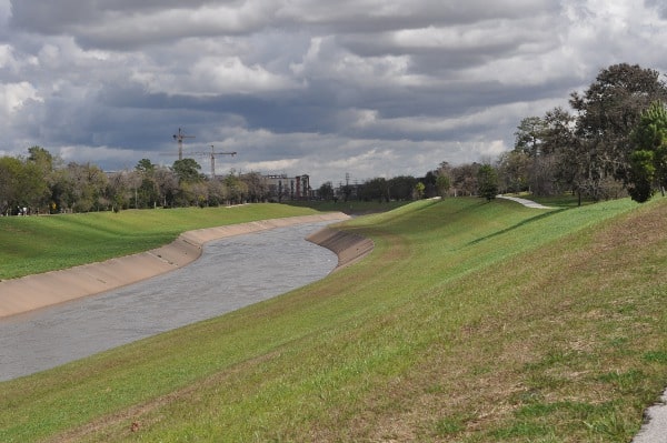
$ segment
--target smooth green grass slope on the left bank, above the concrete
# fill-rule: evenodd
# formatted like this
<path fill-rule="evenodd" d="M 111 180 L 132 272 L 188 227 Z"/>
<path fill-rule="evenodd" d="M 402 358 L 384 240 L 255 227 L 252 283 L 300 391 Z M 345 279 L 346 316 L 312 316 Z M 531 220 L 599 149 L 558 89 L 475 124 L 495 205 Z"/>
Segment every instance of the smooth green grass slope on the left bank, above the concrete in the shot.
<path fill-rule="evenodd" d="M 148 251 L 193 229 L 312 213 L 309 208 L 251 204 L 0 218 L 0 280 Z"/>

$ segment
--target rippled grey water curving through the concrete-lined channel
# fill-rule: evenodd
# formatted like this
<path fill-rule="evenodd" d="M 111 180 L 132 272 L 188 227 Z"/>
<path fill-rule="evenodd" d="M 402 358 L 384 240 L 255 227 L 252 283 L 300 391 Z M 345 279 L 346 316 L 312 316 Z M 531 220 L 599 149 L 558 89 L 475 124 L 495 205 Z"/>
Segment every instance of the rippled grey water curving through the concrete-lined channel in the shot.
<path fill-rule="evenodd" d="M 0 319 L 0 381 L 210 319 L 317 281 L 338 258 L 305 240 L 330 222 L 207 243 L 188 266 L 56 306 Z"/>

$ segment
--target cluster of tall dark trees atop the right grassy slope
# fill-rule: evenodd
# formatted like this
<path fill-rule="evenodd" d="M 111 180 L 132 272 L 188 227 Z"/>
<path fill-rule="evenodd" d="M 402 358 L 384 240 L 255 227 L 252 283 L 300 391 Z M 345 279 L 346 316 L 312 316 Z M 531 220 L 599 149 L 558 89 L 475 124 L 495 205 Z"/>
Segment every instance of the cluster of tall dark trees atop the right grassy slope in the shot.
<path fill-rule="evenodd" d="M 644 202 L 667 184 L 667 88 L 637 64 L 603 69 L 571 109 L 526 117 L 515 149 L 497 162 L 505 192 L 574 192 L 594 201 L 629 194 Z"/>

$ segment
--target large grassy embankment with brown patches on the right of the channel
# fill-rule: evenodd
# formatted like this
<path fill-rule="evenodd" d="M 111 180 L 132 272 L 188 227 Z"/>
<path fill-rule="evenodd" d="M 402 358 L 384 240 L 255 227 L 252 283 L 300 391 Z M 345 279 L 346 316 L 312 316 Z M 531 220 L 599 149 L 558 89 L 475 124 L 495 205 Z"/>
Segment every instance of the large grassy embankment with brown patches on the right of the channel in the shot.
<path fill-rule="evenodd" d="M 627 442 L 667 383 L 665 200 L 346 229 L 320 282 L 0 383 L 0 441 Z"/>

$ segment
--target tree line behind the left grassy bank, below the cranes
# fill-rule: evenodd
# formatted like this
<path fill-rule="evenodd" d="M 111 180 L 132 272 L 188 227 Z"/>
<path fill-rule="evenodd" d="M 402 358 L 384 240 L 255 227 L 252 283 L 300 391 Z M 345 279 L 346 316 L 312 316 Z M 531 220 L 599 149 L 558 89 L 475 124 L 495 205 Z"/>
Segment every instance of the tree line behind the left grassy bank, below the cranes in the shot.
<path fill-rule="evenodd" d="M 104 172 L 91 163 L 64 163 L 41 147 L 27 157 L 0 158 L 0 214 L 235 204 L 262 201 L 266 182 L 257 172 L 231 171 L 209 179 L 193 159 L 171 167 L 140 160 L 133 170 Z"/>

